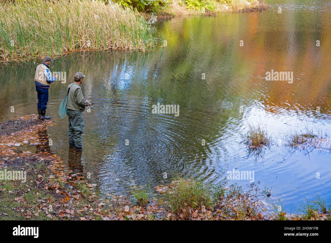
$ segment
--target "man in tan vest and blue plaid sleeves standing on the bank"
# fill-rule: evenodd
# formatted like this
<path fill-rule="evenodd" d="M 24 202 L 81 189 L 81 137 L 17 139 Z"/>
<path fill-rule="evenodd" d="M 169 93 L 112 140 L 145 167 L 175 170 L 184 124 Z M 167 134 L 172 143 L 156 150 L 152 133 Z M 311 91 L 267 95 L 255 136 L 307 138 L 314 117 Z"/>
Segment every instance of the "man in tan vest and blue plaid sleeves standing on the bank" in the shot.
<path fill-rule="evenodd" d="M 36 73 L 34 75 L 34 84 L 38 93 L 38 118 L 39 119 L 50 119 L 50 116 L 46 116 L 46 108 L 48 102 L 48 89 L 52 82 L 56 80 L 58 75 L 52 77 L 51 71 L 49 70 L 49 64 L 53 60 L 50 57 L 45 57 L 43 63 L 38 65 Z"/>

